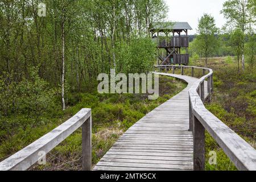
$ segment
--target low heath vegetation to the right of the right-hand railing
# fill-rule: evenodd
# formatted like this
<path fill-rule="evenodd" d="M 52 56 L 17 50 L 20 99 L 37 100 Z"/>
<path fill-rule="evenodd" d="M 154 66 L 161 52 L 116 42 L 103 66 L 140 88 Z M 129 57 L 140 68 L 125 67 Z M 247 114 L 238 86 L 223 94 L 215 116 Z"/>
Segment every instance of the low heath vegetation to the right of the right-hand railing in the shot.
<path fill-rule="evenodd" d="M 196 62 L 204 65 L 204 59 Z M 207 109 L 222 122 L 256 148 L 256 75 L 249 69 L 237 72 L 235 57 L 215 57 L 209 60 L 209 67 L 214 71 L 214 93 Z M 210 165 L 209 152 L 217 152 L 217 164 Z M 228 156 L 212 137 L 206 133 L 206 169 L 236 170 Z"/>

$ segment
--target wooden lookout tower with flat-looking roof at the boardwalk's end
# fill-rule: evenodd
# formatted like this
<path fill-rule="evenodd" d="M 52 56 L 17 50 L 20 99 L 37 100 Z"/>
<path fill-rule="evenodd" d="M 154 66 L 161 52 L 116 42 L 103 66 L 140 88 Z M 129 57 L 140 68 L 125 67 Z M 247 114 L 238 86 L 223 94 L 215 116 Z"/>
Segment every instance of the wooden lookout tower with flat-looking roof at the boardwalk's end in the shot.
<path fill-rule="evenodd" d="M 187 22 L 158 22 L 151 26 L 152 38 L 157 42 L 158 65 L 188 65 L 188 30 L 192 28 Z"/>

